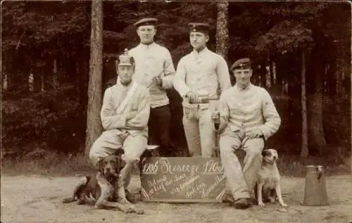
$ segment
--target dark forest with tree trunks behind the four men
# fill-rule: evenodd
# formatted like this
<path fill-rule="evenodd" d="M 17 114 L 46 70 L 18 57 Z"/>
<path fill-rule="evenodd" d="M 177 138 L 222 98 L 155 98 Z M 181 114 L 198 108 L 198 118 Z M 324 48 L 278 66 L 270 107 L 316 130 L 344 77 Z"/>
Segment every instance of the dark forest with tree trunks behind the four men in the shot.
<path fill-rule="evenodd" d="M 155 17 L 156 42 L 170 50 L 175 68 L 191 51 L 190 22 L 212 25 L 208 48 L 229 66 L 253 60 L 253 83 L 268 89 L 282 117 L 265 146 L 279 151 L 282 165 L 292 165 L 287 172 L 312 159 L 328 166 L 350 162 L 348 1 L 2 1 L 1 16 L 6 160 L 53 165 L 63 163 L 58 155 L 65 162 L 82 157 L 102 131 L 101 97 L 115 78 L 116 56 L 138 44 L 133 23 Z M 175 155 L 186 156 L 182 98 L 175 90 L 168 96 Z"/>

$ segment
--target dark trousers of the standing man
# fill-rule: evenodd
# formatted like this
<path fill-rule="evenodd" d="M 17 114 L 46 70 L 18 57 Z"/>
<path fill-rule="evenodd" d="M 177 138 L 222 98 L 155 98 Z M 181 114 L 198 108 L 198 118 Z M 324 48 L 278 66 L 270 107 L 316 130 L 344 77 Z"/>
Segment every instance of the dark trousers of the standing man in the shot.
<path fill-rule="evenodd" d="M 172 143 L 170 140 L 170 106 L 151 108 L 148 122 L 149 145 L 158 145 L 160 156 L 172 156 Z"/>

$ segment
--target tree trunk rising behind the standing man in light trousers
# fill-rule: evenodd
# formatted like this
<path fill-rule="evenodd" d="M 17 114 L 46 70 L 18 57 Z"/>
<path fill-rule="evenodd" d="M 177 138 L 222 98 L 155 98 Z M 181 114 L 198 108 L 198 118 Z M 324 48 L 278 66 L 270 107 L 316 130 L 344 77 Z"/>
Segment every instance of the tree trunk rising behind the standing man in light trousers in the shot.
<path fill-rule="evenodd" d="M 229 2 L 218 1 L 216 3 L 218 10 L 218 18 L 216 19 L 216 53 L 220 54 L 225 60 L 227 60 L 227 51 L 229 49 Z"/>

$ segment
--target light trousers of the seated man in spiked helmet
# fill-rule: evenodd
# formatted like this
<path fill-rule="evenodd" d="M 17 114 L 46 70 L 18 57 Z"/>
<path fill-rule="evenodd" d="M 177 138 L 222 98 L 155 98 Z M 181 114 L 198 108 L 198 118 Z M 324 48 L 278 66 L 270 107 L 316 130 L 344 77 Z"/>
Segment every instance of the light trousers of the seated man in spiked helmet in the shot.
<path fill-rule="evenodd" d="M 132 136 L 129 132 L 120 134 L 115 129 L 108 130 L 96 139 L 89 151 L 89 158 L 96 167 L 101 158 L 113 155 L 118 148 L 123 148 L 126 165 L 122 168 L 120 175 L 125 188 L 127 188 L 130 184 L 134 164 L 146 149 L 147 141 L 146 136 L 142 134 Z"/>

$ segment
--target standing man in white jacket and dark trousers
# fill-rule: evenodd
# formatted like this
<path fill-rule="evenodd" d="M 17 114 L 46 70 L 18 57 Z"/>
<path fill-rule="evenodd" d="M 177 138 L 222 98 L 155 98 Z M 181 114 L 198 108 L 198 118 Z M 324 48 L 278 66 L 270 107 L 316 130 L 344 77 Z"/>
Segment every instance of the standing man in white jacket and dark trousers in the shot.
<path fill-rule="evenodd" d="M 134 23 L 140 44 L 130 50 L 136 60 L 134 80 L 149 88 L 151 112 L 148 122 L 149 144 L 160 146 L 159 155 L 172 155 L 170 139 L 170 106 L 166 89 L 172 87 L 175 68 L 170 51 L 154 42 L 156 18 L 144 18 Z"/>

